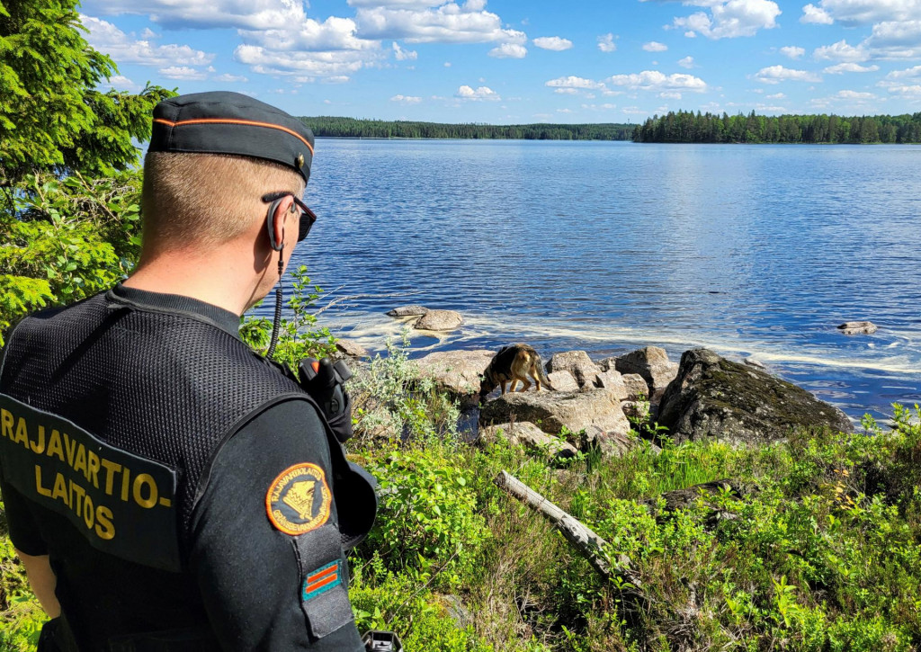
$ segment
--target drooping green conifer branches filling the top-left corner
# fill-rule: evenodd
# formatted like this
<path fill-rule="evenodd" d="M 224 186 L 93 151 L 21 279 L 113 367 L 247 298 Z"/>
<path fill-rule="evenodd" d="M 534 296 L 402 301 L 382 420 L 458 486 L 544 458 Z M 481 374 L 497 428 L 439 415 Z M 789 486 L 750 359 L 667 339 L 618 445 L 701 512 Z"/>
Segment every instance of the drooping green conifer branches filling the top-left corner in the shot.
<path fill-rule="evenodd" d="M 96 87 L 116 73 L 90 48 L 73 0 L 17 0 L 0 13 L 0 186 L 7 208 L 29 172 L 109 175 L 137 161 L 150 111 L 172 93 Z"/>

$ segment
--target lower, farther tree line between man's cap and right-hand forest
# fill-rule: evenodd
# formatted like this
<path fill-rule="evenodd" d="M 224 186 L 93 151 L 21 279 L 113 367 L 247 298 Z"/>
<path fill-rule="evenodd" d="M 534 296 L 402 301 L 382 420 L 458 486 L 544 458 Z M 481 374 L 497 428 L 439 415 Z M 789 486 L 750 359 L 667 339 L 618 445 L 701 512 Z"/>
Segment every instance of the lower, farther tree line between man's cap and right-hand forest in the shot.
<path fill-rule="evenodd" d="M 300 118 L 318 136 L 339 138 L 484 138 L 513 140 L 630 140 L 632 124 L 443 124 L 357 120 L 355 118 Z"/>

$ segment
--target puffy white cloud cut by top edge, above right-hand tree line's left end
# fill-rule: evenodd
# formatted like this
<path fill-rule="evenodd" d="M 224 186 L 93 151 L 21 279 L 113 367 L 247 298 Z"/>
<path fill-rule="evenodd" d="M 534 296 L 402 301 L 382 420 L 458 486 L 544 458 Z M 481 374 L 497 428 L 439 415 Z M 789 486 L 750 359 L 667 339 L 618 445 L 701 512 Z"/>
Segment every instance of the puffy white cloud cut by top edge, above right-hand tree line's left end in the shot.
<path fill-rule="evenodd" d="M 781 14 L 780 7 L 772 0 L 684 0 L 683 4 L 705 7 L 710 13 L 700 11 L 676 17 L 672 26 L 685 29 L 685 36 L 700 33 L 714 40 L 754 36 L 759 29 L 773 29 Z"/>

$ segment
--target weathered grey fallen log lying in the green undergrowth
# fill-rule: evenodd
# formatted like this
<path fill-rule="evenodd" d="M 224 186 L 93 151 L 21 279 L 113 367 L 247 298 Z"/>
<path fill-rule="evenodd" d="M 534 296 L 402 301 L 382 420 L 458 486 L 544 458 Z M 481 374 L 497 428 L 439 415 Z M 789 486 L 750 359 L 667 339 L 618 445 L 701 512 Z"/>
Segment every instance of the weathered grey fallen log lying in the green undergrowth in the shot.
<path fill-rule="evenodd" d="M 598 571 L 600 576 L 605 579 L 619 579 L 622 583 L 628 583 L 629 586 L 622 585 L 621 590 L 624 598 L 627 598 L 635 605 L 647 601 L 643 585 L 639 576 L 630 567 L 630 558 L 627 555 L 618 555 L 617 564 L 612 564 L 607 554 L 604 553 L 604 547 L 607 545 L 606 541 L 601 539 L 582 521 L 555 506 L 514 475 L 505 471 L 499 472 L 495 476 L 494 482 L 499 488 L 518 498 L 519 501 L 547 518 L 557 530 L 560 530 L 566 541 L 572 543 L 578 552 L 589 561 L 589 564 Z"/>

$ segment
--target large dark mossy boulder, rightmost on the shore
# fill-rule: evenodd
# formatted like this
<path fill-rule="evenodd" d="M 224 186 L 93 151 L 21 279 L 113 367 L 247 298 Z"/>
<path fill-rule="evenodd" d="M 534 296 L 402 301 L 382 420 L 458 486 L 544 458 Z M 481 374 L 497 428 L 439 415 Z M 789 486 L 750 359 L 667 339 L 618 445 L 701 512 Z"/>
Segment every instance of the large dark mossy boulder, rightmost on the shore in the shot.
<path fill-rule="evenodd" d="M 787 437 L 797 428 L 853 430 L 845 413 L 808 391 L 707 349 L 682 355 L 678 377 L 659 404 L 659 425 L 677 441 L 716 437 L 735 443 Z"/>

